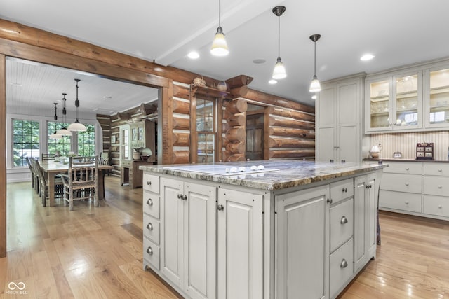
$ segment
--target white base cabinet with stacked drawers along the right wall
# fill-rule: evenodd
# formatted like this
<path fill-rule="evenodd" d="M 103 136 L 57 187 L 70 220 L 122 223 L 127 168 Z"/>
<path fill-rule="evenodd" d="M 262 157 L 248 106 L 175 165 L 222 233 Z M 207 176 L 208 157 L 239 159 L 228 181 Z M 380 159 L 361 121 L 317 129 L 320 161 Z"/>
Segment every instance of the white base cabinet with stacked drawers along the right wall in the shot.
<path fill-rule="evenodd" d="M 388 162 L 379 207 L 449 220 L 449 163 Z"/>

